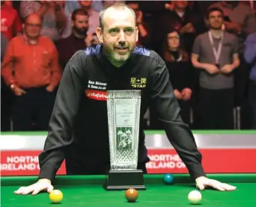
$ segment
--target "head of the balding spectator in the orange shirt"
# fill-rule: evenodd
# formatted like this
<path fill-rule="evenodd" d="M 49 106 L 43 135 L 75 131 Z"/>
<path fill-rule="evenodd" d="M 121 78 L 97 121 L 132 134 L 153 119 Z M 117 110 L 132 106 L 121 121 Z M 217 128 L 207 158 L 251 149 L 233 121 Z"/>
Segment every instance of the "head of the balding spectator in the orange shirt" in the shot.
<path fill-rule="evenodd" d="M 28 38 L 31 40 L 37 40 L 41 31 L 40 18 L 35 15 L 29 16 L 28 19 L 26 19 L 24 31 Z"/>

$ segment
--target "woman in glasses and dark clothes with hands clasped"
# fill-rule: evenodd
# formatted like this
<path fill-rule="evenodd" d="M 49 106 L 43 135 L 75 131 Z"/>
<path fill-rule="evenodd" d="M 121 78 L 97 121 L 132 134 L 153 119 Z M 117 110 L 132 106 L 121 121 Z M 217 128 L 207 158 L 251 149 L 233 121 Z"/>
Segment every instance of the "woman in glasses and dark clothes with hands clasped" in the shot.
<path fill-rule="evenodd" d="M 180 34 L 177 30 L 168 32 L 162 57 L 169 71 L 174 95 L 180 104 L 181 117 L 185 123 L 189 124 L 190 100 L 195 81 L 189 55 L 182 49 Z"/>

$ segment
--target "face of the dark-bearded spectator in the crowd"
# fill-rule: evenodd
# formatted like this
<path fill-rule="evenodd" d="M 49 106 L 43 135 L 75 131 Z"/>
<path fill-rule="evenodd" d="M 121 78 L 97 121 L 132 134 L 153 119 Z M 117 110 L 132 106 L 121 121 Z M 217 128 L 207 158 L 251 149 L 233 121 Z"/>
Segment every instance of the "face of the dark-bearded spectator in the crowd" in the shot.
<path fill-rule="evenodd" d="M 74 31 L 85 36 L 89 28 L 88 16 L 76 15 L 76 20 L 72 22 L 72 26 Z"/>

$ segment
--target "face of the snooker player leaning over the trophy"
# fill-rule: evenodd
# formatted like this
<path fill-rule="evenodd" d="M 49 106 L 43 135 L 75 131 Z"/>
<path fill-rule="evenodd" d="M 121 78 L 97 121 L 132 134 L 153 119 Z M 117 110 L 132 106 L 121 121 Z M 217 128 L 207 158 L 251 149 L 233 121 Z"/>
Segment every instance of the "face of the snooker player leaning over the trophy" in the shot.
<path fill-rule="evenodd" d="M 138 28 L 129 9 L 109 8 L 103 16 L 103 31 L 97 29 L 97 35 L 106 55 L 116 64 L 124 64 L 135 48 L 138 40 Z"/>

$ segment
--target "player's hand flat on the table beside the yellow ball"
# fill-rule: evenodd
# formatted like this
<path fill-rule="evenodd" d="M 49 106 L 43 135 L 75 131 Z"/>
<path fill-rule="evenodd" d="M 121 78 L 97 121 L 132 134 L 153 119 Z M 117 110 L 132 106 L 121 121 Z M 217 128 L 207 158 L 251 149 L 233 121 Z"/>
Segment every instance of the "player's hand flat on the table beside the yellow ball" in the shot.
<path fill-rule="evenodd" d="M 14 191 L 14 194 L 36 195 L 36 194 L 40 193 L 41 191 L 47 191 L 48 193 L 53 191 L 53 186 L 49 179 L 39 179 L 33 185 L 29 185 L 27 187 L 22 186 L 17 191 Z"/>

